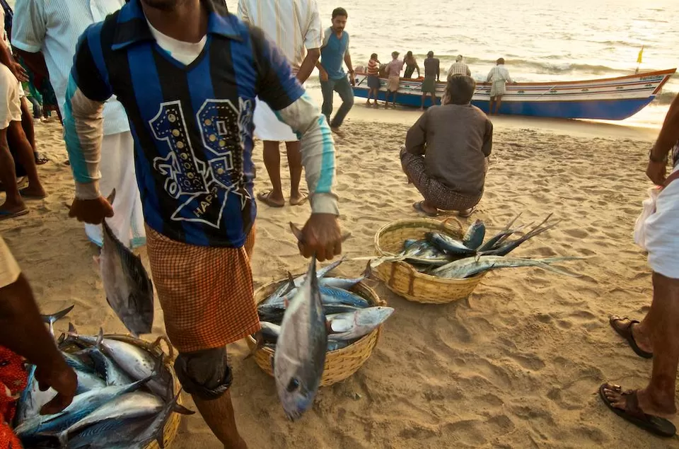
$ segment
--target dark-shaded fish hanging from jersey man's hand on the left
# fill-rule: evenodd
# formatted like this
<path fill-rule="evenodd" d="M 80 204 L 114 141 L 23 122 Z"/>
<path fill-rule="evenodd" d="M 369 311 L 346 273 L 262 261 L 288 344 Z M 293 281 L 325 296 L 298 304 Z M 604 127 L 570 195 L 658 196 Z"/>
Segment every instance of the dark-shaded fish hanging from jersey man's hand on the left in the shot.
<path fill-rule="evenodd" d="M 113 190 L 109 202 L 115 199 Z M 153 284 L 141 258 L 118 240 L 104 219 L 103 247 L 98 258 L 106 301 L 135 337 L 153 326 Z"/>

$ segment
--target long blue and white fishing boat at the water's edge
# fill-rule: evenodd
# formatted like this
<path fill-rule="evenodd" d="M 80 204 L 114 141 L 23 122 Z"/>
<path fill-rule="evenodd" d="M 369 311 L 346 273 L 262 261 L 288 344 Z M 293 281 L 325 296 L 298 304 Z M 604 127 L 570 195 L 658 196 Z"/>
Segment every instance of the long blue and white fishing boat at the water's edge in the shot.
<path fill-rule="evenodd" d="M 562 119 L 622 120 L 631 117 L 653 99 L 677 69 L 651 71 L 617 78 L 553 83 L 514 83 L 507 85 L 500 113 Z M 385 78 L 381 79 L 379 99 L 385 99 Z M 441 101 L 446 83 L 436 83 L 436 97 Z M 368 98 L 368 76 L 356 73 L 356 97 Z M 401 78 L 396 103 L 422 105 L 422 79 Z M 472 104 L 488 112 L 490 83 L 478 83 Z M 426 99 L 431 105 L 431 97 Z"/>

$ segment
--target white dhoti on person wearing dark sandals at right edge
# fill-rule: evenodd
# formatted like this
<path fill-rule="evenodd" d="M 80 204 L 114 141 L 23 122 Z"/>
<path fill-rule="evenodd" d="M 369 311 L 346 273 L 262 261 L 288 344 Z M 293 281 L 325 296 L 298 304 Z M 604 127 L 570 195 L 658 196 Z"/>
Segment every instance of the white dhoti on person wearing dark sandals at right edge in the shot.
<path fill-rule="evenodd" d="M 646 251 L 654 272 L 679 279 L 679 180 L 662 190 L 656 211 L 646 218 Z"/>

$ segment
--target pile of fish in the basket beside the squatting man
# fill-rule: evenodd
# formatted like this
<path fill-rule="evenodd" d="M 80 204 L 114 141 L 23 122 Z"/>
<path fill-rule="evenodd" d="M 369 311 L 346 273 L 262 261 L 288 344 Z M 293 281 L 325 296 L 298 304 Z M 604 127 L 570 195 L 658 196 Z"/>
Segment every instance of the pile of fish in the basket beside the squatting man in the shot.
<path fill-rule="evenodd" d="M 486 227 L 480 220 L 470 226 L 462 240 L 446 233 L 427 233 L 422 240 L 405 240 L 403 250 L 397 257 L 412 264 L 419 272 L 448 279 L 464 279 L 494 269 L 513 267 L 540 267 L 559 274 L 576 276 L 559 267 L 553 267 L 552 264 L 579 260 L 581 257 L 507 257 L 522 243 L 556 226 L 558 221 L 545 224 L 551 216 L 550 214 L 538 226 L 513 240 L 509 240 L 511 235 L 530 226 L 511 228 L 518 216 L 485 242 Z"/>

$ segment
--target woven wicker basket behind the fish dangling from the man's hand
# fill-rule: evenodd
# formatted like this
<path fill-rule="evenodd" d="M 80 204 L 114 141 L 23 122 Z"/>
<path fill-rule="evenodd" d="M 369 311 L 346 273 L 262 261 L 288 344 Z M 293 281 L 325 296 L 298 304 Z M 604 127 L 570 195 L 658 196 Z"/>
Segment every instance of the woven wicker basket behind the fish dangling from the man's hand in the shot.
<path fill-rule="evenodd" d="M 255 303 L 259 304 L 268 298 L 276 288 L 282 284 L 282 282 L 287 281 L 274 281 L 255 291 Z M 357 295 L 368 300 L 371 305 L 387 305 L 385 301 L 382 301 L 375 291 L 368 287 L 363 282 L 357 284 L 352 288 L 352 291 Z M 377 340 L 382 332 L 382 326 L 377 327 L 370 334 L 359 339 L 358 342 L 350 344 L 346 348 L 337 349 L 337 351 L 331 351 L 325 354 L 325 367 L 323 368 L 323 378 L 320 380 L 321 387 L 327 387 L 334 383 L 340 382 L 356 373 L 356 371 L 361 368 L 361 366 L 366 363 L 373 348 L 377 344 Z M 250 350 L 255 349 L 256 341 L 253 336 L 248 336 L 248 346 Z M 272 368 L 272 358 L 274 357 L 274 351 L 269 348 L 261 348 L 255 351 L 255 362 L 269 375 L 274 375 Z"/>

